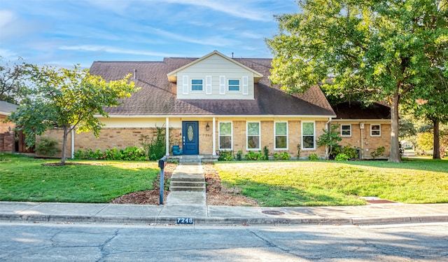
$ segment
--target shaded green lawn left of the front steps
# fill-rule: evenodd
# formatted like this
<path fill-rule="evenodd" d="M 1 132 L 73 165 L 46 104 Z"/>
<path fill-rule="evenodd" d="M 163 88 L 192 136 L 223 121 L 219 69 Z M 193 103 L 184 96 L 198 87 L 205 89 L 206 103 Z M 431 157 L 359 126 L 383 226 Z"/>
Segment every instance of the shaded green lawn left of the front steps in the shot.
<path fill-rule="evenodd" d="M 57 160 L 0 154 L 0 201 L 109 202 L 126 193 L 152 189 L 160 171 L 155 162 L 42 165 L 48 162 Z"/>

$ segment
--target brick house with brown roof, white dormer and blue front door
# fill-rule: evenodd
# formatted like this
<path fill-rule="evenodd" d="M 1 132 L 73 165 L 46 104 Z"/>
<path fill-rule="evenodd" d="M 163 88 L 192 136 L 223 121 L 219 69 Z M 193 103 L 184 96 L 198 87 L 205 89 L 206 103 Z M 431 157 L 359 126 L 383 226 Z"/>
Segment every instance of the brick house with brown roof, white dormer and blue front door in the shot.
<path fill-rule="evenodd" d="M 325 156 L 325 149 L 318 147 L 316 140 L 337 113 L 318 86 L 302 95 L 288 95 L 272 85 L 271 61 L 232 58 L 214 51 L 200 58 L 170 57 L 160 62 L 93 62 L 91 74 L 108 81 L 133 74 L 132 81 L 141 90 L 120 106 L 106 109 L 110 118 L 100 117 L 105 126 L 99 138 L 73 132 L 68 149 L 73 153 L 78 149 L 140 146 L 141 135 L 151 137 L 155 127 L 164 127 L 171 137 L 167 138 L 168 156 L 172 154 L 170 146 L 177 142 L 183 156 L 216 158 L 218 151 L 246 154 L 262 151 L 265 146 L 270 153 L 287 151 L 295 158 L 297 146 L 301 158 L 311 153 Z M 352 120 L 346 122 L 353 128 L 350 142 L 360 119 Z M 365 128 L 370 128 L 369 121 L 363 120 Z M 381 122 L 380 129 L 379 136 L 374 132 L 374 139 L 379 137 L 379 143 L 387 146 L 390 120 Z M 50 130 L 45 135 L 55 137 L 59 132 Z M 369 137 L 360 143 L 367 140 L 373 141 Z"/>

